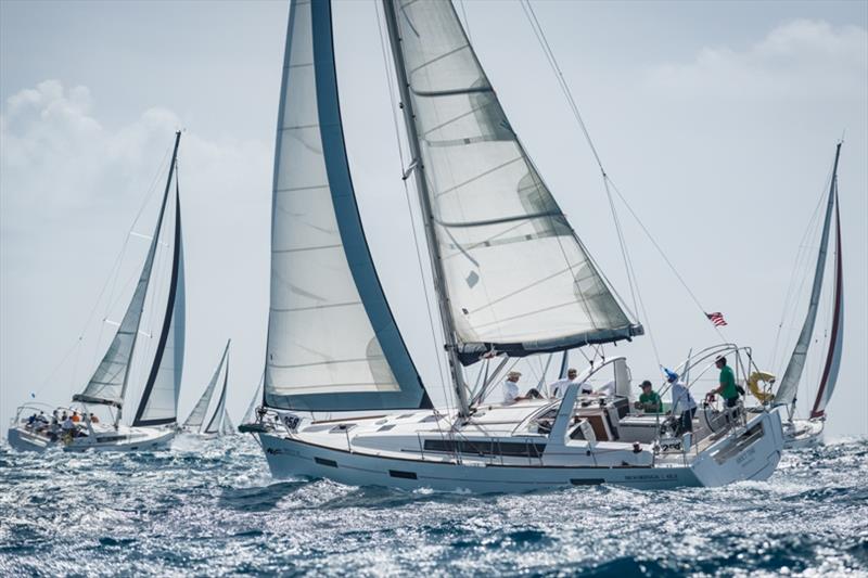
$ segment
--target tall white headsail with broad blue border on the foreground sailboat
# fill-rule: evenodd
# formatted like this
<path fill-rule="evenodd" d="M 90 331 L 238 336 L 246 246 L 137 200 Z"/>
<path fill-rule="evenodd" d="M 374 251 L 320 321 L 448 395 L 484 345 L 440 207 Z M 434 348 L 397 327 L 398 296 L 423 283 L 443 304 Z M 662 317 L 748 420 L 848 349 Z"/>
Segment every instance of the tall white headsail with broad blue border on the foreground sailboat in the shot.
<path fill-rule="evenodd" d="M 331 3 L 295 1 L 281 88 L 265 371 L 270 407 L 429 407 L 392 317 L 344 150 Z"/>

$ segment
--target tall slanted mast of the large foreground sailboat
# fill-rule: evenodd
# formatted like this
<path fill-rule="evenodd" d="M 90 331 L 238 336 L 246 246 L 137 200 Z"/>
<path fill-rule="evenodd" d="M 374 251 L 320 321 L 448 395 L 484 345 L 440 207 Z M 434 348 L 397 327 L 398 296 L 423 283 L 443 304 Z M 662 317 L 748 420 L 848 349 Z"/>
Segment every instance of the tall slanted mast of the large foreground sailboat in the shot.
<path fill-rule="evenodd" d="M 419 146 L 419 134 L 416 129 L 416 123 L 413 121 L 416 115 L 413 113 L 413 104 L 410 97 L 410 82 L 407 78 L 407 73 L 404 69 L 403 64 L 404 53 L 401 48 L 400 33 L 398 30 L 397 16 L 395 14 L 395 7 L 392 0 L 383 0 L 383 9 L 386 18 L 386 28 L 388 29 L 388 40 L 392 44 L 392 56 L 395 61 L 395 74 L 398 80 L 398 90 L 400 91 L 404 121 L 407 128 L 407 134 L 409 137 L 408 141 L 410 145 L 410 153 L 412 154 L 411 169 L 416 176 L 416 190 L 419 195 L 419 205 L 422 208 L 425 240 L 427 242 L 432 278 L 434 280 L 434 292 L 437 295 L 437 309 L 439 311 L 444 333 L 444 347 L 446 348 L 449 359 L 449 370 L 452 374 L 455 391 L 458 396 L 459 416 L 467 418 L 470 415 L 470 402 L 468 401 L 464 376 L 461 371 L 461 364 L 458 359 L 458 351 L 456 348 L 457 339 L 455 323 L 449 312 L 449 295 L 444 281 L 445 274 L 443 270 L 443 261 L 441 260 L 439 244 L 434 236 L 434 218 L 432 216 L 427 182 L 425 180 L 425 167 L 422 160 L 422 151 Z"/>

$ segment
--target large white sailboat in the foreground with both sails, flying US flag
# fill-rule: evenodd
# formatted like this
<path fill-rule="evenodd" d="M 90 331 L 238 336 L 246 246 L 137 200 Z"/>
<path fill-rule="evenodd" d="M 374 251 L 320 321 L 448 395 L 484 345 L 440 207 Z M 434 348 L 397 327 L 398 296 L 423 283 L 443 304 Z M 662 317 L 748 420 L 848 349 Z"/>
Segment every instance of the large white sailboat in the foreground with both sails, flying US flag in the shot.
<path fill-rule="evenodd" d="M 662 442 L 623 357 L 561 399 L 486 403 L 514 358 L 642 335 L 519 142 L 450 1 L 384 0 L 455 408 L 435 409 L 368 249 L 343 139 L 332 3 L 290 8 L 271 304 L 255 434 L 272 475 L 475 492 L 765 479 L 780 419 L 739 414 Z M 496 367 L 474 387 L 464 367 Z M 611 376 L 605 396 L 580 382 Z M 317 419 L 328 413 L 330 419 Z M 710 410 L 711 415 L 715 414 Z"/>

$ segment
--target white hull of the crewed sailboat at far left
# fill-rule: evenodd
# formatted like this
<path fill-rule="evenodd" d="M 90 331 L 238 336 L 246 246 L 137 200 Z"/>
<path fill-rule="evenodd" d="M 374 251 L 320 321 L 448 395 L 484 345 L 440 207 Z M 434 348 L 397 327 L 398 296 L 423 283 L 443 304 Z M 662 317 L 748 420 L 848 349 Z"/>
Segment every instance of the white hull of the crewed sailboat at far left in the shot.
<path fill-rule="evenodd" d="M 174 428 L 164 427 L 100 427 L 93 435 L 73 439 L 51 440 L 48 436 L 37 434 L 23 425 L 9 428 L 9 445 L 17 451 L 44 451 L 60 448 L 63 451 L 155 451 L 167 449 L 175 438 Z"/>

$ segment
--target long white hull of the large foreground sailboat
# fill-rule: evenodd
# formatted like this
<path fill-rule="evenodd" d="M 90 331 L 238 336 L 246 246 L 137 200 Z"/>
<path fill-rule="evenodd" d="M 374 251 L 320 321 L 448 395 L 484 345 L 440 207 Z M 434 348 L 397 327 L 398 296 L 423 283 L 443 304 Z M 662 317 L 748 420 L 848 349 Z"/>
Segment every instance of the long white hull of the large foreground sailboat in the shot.
<path fill-rule="evenodd" d="M 757 427 L 758 426 L 758 427 Z M 758 432 L 758 434 L 757 434 Z M 430 488 L 475 493 L 521 492 L 549 488 L 616 484 L 665 489 L 682 486 L 725 486 L 744 479 L 767 479 L 777 467 L 782 448 L 780 418 L 761 414 L 733 429 L 698 454 L 661 455 L 644 465 L 585 465 L 587 445 L 573 453 L 576 466 L 561 452 L 516 462 L 407 451 L 407 457 L 347 451 L 316 445 L 297 434 L 257 434 L 276 478 L 309 476 L 352 486 L 387 486 L 407 490 Z M 580 446 L 580 442 L 577 444 Z M 350 446 L 352 447 L 352 446 Z M 578 449 L 578 448 L 577 448 Z M 570 459 L 567 458 L 569 462 Z"/>

